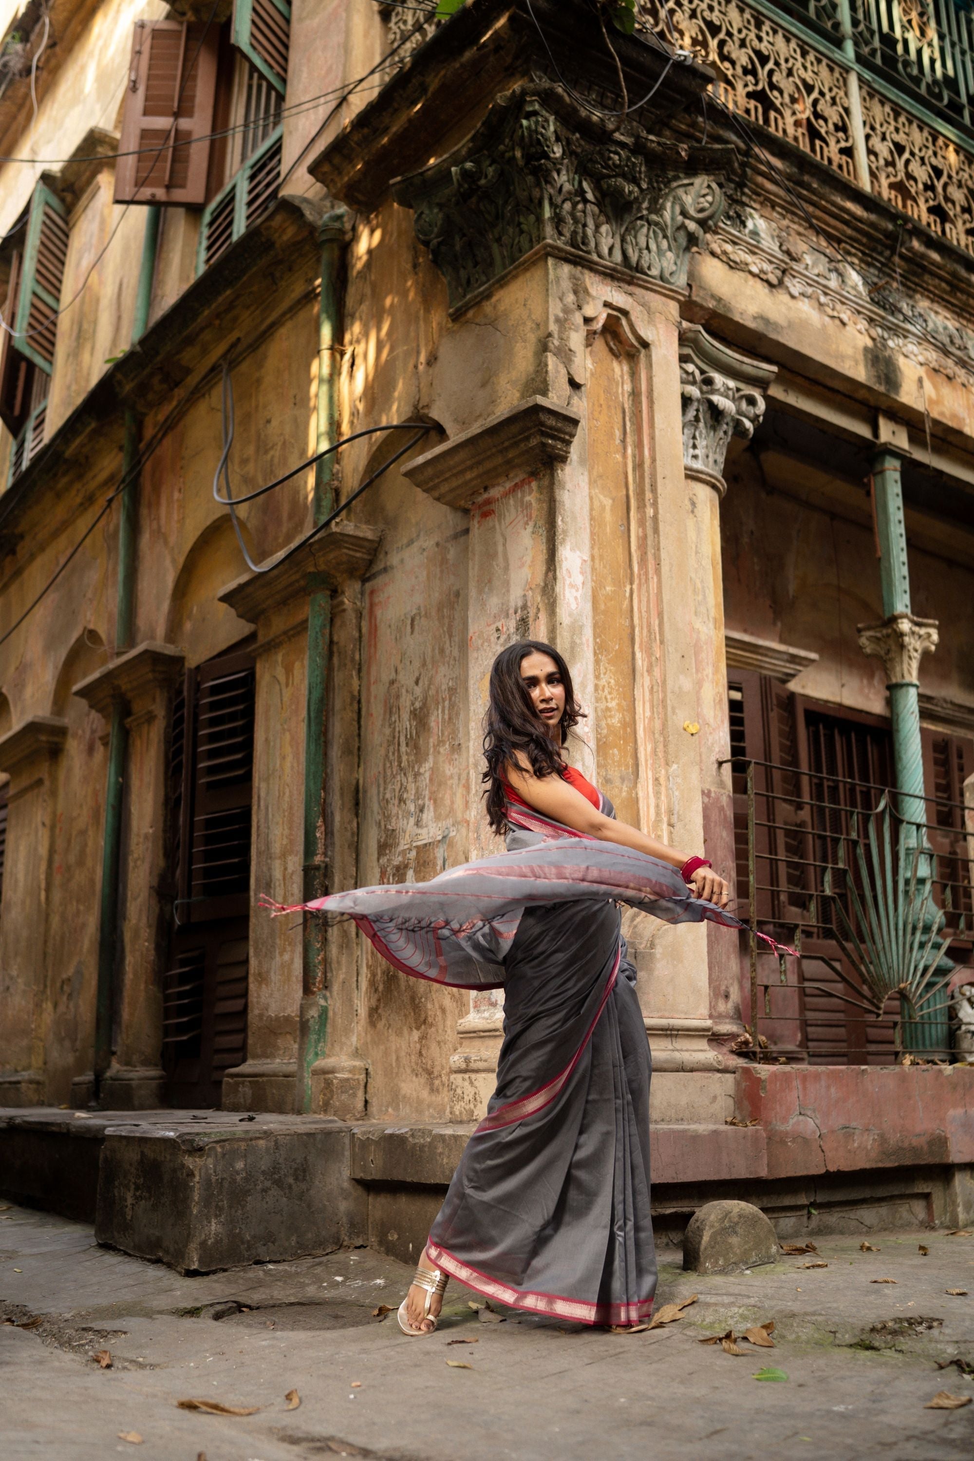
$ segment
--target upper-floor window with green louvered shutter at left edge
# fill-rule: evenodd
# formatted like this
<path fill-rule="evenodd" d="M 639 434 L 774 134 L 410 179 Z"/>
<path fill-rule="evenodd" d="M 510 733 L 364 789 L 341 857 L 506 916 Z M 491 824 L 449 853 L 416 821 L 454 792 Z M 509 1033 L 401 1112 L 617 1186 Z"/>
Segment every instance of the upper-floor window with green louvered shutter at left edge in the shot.
<path fill-rule="evenodd" d="M 0 419 L 13 435 L 7 485 L 44 443 L 67 238 L 64 205 L 38 183 L 10 234 L 0 340 Z"/>

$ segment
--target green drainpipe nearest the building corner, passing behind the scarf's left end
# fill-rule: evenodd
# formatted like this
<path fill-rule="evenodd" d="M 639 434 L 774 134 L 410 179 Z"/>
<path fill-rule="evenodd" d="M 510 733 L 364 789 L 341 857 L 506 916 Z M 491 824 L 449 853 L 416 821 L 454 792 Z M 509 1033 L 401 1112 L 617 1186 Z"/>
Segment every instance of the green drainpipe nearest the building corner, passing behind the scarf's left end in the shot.
<path fill-rule="evenodd" d="M 320 231 L 321 300 L 318 307 L 318 416 L 315 451 L 337 441 L 339 373 L 342 340 L 342 264 L 346 213 L 329 213 Z M 314 522 L 334 507 L 334 454 L 315 463 Z M 331 646 L 331 586 L 323 574 L 308 577 L 308 688 L 304 730 L 304 901 L 324 897 L 327 863 L 324 846 L 329 652 Z M 298 1050 L 298 1110 L 311 1110 L 311 1068 L 321 1059 L 329 1034 L 326 929 L 305 915 L 301 958 L 301 1034 Z"/>

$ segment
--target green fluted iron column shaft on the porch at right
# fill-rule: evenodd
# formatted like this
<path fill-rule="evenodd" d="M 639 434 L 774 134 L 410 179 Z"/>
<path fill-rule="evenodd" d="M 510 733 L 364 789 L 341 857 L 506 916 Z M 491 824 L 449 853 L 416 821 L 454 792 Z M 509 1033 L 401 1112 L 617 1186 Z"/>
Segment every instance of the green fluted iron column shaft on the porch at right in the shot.
<path fill-rule="evenodd" d="M 879 533 L 879 577 L 882 584 L 883 617 L 911 614 L 910 567 L 907 562 L 907 529 L 902 514 L 901 457 L 895 451 L 881 449 L 873 457 L 873 491 L 876 501 L 876 529 Z M 892 751 L 900 815 L 907 823 L 916 823 L 907 842 L 926 844 L 926 787 L 923 782 L 923 739 L 920 735 L 920 685 L 916 679 L 900 679 L 886 685 L 889 713 L 892 719 Z M 921 859 L 920 872 L 930 877 L 930 862 Z M 943 955 L 935 969 L 933 983 L 954 967 Z M 902 1011 L 902 1045 L 907 1050 L 946 1050 L 951 1045 L 951 1026 L 946 1011 L 946 993 L 935 995 L 933 1005 L 920 1011 Z M 943 1008 L 939 1005 L 943 1004 Z"/>

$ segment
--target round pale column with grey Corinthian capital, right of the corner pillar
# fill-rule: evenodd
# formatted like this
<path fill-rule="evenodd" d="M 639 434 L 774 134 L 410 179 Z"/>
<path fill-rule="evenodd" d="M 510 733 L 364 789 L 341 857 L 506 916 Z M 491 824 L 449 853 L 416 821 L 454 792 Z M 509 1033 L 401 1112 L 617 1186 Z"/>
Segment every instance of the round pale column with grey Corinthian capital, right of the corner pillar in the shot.
<path fill-rule="evenodd" d="M 713 339 L 699 324 L 683 324 L 679 337 L 680 406 L 683 425 L 685 510 L 691 581 L 683 614 L 692 624 L 697 710 L 683 732 L 699 754 L 699 796 L 704 852 L 733 890 L 735 844 L 727 712 L 727 662 L 720 543 L 720 500 L 726 491 L 724 460 L 732 437 L 749 440 L 765 411 L 765 392 L 777 370 Z M 673 605 L 679 614 L 679 605 Z M 737 897 L 740 890 L 735 890 Z M 735 1029 L 740 1011 L 736 939 L 707 926 L 710 1029 L 697 1037 L 673 1030 L 679 1069 L 705 1068 L 713 1059 L 707 1037 Z M 739 1026 L 736 1026 L 739 1029 Z M 691 1040 L 695 1045 L 692 1050 Z M 679 1048 L 682 1046 L 682 1049 Z M 657 1062 L 659 1067 L 659 1062 Z M 664 1067 L 663 1067 L 664 1068 Z"/>

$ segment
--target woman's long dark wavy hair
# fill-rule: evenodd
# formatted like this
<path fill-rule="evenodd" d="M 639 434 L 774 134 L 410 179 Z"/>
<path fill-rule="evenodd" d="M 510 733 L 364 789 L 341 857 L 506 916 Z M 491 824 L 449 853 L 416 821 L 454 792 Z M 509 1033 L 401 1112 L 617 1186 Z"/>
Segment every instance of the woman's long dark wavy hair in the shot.
<path fill-rule="evenodd" d="M 521 679 L 521 660 L 529 655 L 548 655 L 558 665 L 565 687 L 565 713 L 561 717 L 561 744 L 568 739 L 584 710 L 575 700 L 568 665 L 556 649 L 540 640 L 518 640 L 502 649 L 491 665 L 489 704 L 485 716 L 483 758 L 488 764 L 480 777 L 485 783 L 488 821 L 501 836 L 507 830 L 502 774 L 523 751 L 534 776 L 561 776 L 565 768 L 561 751 L 548 735 L 548 726 L 534 713 L 532 697 Z"/>

